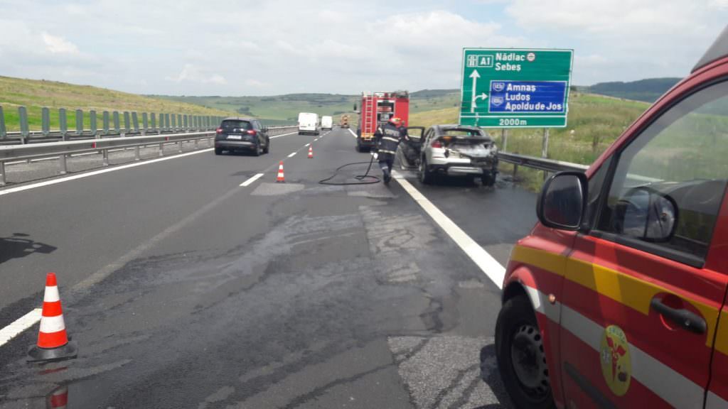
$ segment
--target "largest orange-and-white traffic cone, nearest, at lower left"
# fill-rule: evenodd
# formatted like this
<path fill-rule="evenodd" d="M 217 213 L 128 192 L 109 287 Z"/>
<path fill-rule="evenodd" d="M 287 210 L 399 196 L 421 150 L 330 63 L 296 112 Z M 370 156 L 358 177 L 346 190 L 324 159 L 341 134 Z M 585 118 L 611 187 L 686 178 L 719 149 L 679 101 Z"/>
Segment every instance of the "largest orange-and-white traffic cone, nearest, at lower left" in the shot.
<path fill-rule="evenodd" d="M 28 362 L 68 360 L 75 358 L 77 354 L 76 343 L 69 341 L 66 334 L 55 273 L 48 273 L 38 342 L 28 349 Z"/>

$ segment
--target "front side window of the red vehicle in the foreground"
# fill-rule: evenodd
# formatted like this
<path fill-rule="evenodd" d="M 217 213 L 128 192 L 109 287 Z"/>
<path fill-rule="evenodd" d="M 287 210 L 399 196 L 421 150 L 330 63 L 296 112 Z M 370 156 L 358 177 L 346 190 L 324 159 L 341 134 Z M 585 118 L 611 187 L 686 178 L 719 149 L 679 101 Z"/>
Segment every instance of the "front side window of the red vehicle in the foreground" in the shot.
<path fill-rule="evenodd" d="M 727 95 L 721 82 L 681 100 L 620 153 L 601 231 L 704 261 L 728 179 Z"/>

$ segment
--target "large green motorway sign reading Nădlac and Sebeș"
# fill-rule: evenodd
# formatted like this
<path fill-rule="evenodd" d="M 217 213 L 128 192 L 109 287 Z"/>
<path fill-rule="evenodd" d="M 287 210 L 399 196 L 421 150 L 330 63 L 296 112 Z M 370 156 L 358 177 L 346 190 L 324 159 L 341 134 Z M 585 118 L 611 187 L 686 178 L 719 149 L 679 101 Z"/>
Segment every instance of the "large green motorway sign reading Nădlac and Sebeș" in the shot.
<path fill-rule="evenodd" d="M 466 48 L 460 124 L 566 127 L 571 49 Z"/>

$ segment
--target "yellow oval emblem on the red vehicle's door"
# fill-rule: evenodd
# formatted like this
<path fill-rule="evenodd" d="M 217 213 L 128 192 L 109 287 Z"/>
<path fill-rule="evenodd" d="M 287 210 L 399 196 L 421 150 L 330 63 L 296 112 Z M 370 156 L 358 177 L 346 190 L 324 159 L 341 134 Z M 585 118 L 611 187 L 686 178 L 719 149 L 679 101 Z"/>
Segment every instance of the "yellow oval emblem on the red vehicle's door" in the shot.
<path fill-rule="evenodd" d="M 617 396 L 626 394 L 632 379 L 632 359 L 622 328 L 617 325 L 604 328 L 599 354 L 601 373 L 609 389 Z"/>

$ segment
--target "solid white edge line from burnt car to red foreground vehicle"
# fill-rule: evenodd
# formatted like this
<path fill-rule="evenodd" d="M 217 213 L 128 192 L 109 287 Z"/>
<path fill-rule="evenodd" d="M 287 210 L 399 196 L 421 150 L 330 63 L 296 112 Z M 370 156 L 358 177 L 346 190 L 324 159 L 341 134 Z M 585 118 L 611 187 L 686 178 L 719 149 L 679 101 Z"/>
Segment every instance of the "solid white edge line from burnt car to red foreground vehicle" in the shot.
<path fill-rule="evenodd" d="M 448 218 L 445 213 L 440 211 L 435 204 L 432 204 L 423 194 L 421 194 L 411 183 L 400 175 L 396 170 L 392 170 L 392 176 L 400 183 L 405 191 L 412 196 L 415 202 L 417 202 L 422 209 L 430 215 L 435 223 L 438 223 L 441 229 L 443 229 L 448 236 L 458 245 L 464 253 L 470 257 L 475 265 L 477 265 L 483 273 L 488 276 L 491 281 L 502 288 L 503 279 L 505 278 L 505 267 L 493 258 L 492 255 L 480 247 L 475 240 L 471 239 L 462 229 L 459 228 L 453 221 Z"/>

